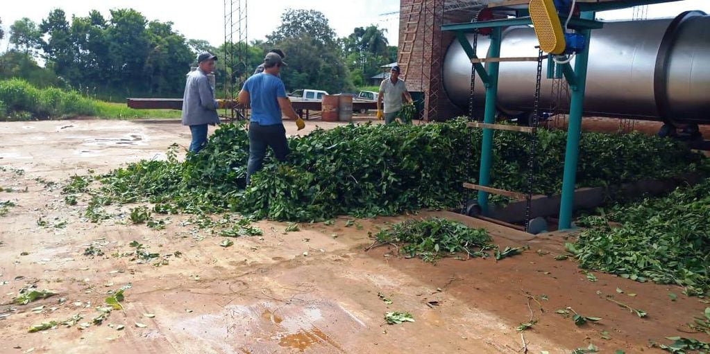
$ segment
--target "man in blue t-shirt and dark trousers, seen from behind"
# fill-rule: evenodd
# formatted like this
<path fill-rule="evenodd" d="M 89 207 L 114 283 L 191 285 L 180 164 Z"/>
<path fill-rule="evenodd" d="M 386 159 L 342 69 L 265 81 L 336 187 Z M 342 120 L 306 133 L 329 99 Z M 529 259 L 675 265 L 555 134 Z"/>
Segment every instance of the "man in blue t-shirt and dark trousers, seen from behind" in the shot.
<path fill-rule="evenodd" d="M 298 117 L 291 101 L 286 97 L 286 88 L 278 74 L 286 63 L 280 55 L 269 52 L 264 58 L 264 72 L 251 76 L 239 91 L 239 102 L 249 102 L 249 163 L 246 166 L 246 184 L 253 173 L 263 164 L 266 147 L 273 149 L 278 161 L 285 161 L 288 155 L 286 130 L 281 121 L 282 113 L 296 120 L 298 130 L 305 125 Z"/>

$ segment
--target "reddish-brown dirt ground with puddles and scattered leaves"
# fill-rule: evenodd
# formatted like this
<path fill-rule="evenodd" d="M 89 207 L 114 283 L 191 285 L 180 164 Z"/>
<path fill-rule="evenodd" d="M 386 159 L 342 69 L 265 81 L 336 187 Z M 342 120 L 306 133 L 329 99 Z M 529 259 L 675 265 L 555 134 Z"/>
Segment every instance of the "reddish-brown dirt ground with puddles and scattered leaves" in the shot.
<path fill-rule="evenodd" d="M 306 132 L 315 124 L 307 122 Z M 295 132 L 293 123 L 287 131 Z M 1 353 L 523 353 L 523 338 L 536 354 L 571 353 L 590 343 L 600 353 L 656 353 L 649 341 L 692 336 L 679 330 L 706 307 L 679 287 L 601 273 L 591 282 L 573 261 L 554 259 L 568 235 L 532 237 L 448 212 L 360 219 L 351 227 L 341 217 L 288 233 L 284 223 L 261 221 L 263 236 L 223 248 L 222 237 L 195 231 L 185 215 L 169 217 L 160 231 L 126 217 L 92 224 L 82 219 L 87 198 L 75 206 L 63 200 L 60 185 L 73 174 L 162 159 L 170 144 L 189 139 L 187 128 L 171 122 L 0 123 L 0 186 L 15 190 L 0 192 L 0 202 L 16 204 L 0 217 Z M 426 215 L 486 227 L 496 244 L 530 250 L 498 262 L 449 258 L 436 265 L 398 257 L 391 246 L 364 251 L 372 243 L 368 232 Z M 48 227 L 38 225 L 40 218 Z M 151 252 L 182 254 L 159 267 L 111 256 L 130 252 L 134 240 Z M 105 255 L 84 256 L 92 245 Z M 30 284 L 58 295 L 11 304 Z M 127 284 L 124 310 L 101 325 L 28 333 L 28 326 L 75 314 L 90 324 L 107 291 Z M 565 307 L 602 319 L 575 326 L 556 313 Z M 410 312 L 415 322 L 387 325 L 389 311 Z M 537 323 L 521 336 L 515 327 L 531 317 Z"/>

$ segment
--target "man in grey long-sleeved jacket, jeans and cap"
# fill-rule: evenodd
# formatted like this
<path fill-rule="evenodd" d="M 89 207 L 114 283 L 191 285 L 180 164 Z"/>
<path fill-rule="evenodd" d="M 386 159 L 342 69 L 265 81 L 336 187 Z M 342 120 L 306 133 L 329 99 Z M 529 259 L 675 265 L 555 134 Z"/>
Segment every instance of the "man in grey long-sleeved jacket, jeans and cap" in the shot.
<path fill-rule="evenodd" d="M 217 108 L 228 108 L 231 102 L 214 99 L 214 90 L 207 75 L 214 71 L 217 57 L 209 52 L 197 55 L 197 70 L 187 74 L 182 96 L 182 125 L 190 127 L 190 152 L 197 154 L 207 144 L 207 125 L 219 124 Z"/>

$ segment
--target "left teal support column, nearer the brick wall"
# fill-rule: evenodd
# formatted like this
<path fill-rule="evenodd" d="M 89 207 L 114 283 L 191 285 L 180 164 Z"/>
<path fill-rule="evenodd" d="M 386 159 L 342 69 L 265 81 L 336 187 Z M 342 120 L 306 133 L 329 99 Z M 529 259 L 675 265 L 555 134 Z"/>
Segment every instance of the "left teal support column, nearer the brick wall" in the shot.
<path fill-rule="evenodd" d="M 488 49 L 488 57 L 501 57 L 501 28 L 493 28 L 491 33 L 491 45 Z M 494 123 L 496 120 L 496 101 L 498 99 L 498 62 L 488 63 L 488 83 L 486 83 L 486 110 L 484 112 L 484 122 Z M 493 130 L 484 128 L 483 141 L 481 142 L 481 170 L 479 171 L 479 185 L 490 185 L 491 183 L 491 159 L 493 155 Z M 479 190 L 478 198 L 481 212 L 488 211 L 488 193 Z"/>

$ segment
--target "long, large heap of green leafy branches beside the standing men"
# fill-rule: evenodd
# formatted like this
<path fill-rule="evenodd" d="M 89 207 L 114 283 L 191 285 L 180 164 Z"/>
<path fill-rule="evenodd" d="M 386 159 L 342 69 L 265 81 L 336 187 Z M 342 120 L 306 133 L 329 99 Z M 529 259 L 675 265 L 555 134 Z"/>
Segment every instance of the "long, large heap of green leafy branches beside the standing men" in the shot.
<path fill-rule="evenodd" d="M 469 140 L 470 138 L 470 140 Z M 534 193 L 559 193 L 566 133 L 539 130 Z M 492 185 L 526 190 L 528 144 L 515 132 L 496 132 Z M 263 169 L 245 188 L 249 138 L 239 125 L 222 125 L 199 154 L 178 161 L 143 160 L 101 178 L 89 193 L 111 202 L 153 202 L 155 211 L 204 214 L 232 210 L 258 219 L 292 222 L 337 215 L 398 215 L 422 208 L 458 207 L 461 183 L 476 183 L 481 132 L 469 136 L 465 120 L 427 125 L 344 125 L 289 139 L 285 164 L 267 154 Z M 466 150 L 474 166 L 466 178 Z M 704 156 L 671 139 L 639 134 L 585 133 L 581 139 L 579 186 L 616 185 L 710 170 Z M 87 188 L 72 183 L 75 192 Z M 69 193 L 69 192 L 67 192 Z M 499 200 L 500 201 L 500 200 Z M 91 215 L 104 215 L 93 204 Z M 92 206 L 90 204 L 89 206 Z"/>

